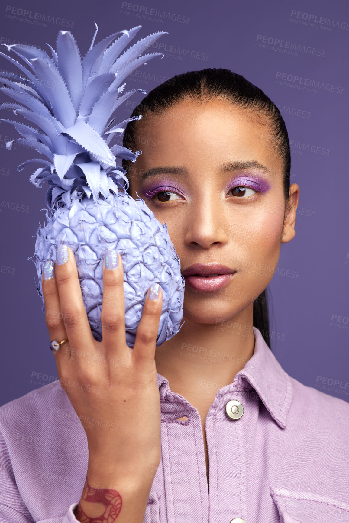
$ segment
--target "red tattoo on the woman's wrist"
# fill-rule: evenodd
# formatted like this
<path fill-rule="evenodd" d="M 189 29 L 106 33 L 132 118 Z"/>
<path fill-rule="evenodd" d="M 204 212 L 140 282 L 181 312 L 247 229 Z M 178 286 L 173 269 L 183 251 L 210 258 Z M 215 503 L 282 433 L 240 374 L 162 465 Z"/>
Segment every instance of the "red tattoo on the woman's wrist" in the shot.
<path fill-rule="evenodd" d="M 78 504 L 75 517 L 81 523 L 114 523 L 120 514 L 122 499 L 116 490 L 111 488 L 95 488 L 87 481 L 82 492 L 82 499 L 89 503 L 100 503 L 105 506 L 104 513 L 97 517 L 87 516 Z"/>

